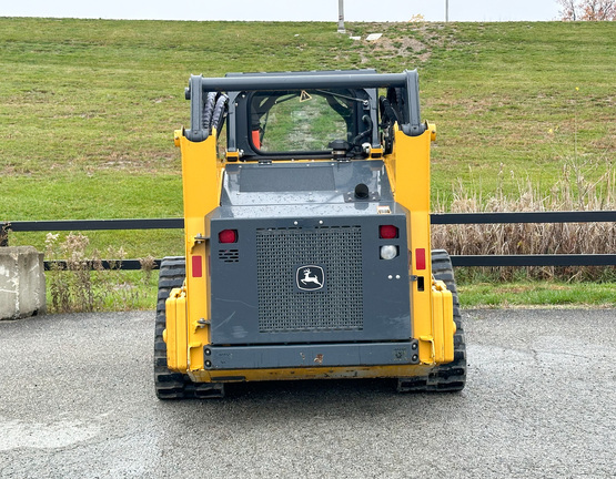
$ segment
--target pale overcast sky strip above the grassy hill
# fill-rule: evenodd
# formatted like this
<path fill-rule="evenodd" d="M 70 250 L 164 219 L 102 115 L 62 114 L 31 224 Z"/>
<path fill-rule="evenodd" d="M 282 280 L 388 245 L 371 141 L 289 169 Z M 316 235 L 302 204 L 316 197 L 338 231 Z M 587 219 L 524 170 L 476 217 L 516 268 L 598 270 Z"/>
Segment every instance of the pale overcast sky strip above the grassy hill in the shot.
<path fill-rule="evenodd" d="M 450 21 L 547 21 L 556 0 L 448 0 Z M 337 21 L 337 0 L 1 0 L 0 17 Z M 445 19 L 445 0 L 344 0 L 346 21 Z"/>

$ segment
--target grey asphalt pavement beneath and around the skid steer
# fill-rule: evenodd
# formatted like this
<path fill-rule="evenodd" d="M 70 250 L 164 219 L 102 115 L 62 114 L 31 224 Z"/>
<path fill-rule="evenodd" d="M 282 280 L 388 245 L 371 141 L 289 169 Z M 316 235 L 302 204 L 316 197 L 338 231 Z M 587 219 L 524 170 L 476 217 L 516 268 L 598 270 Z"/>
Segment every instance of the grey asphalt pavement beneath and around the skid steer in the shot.
<path fill-rule="evenodd" d="M 151 312 L 0 322 L 0 477 L 615 477 L 616 310 L 463 317 L 460 394 L 294 381 L 165 402 Z"/>

